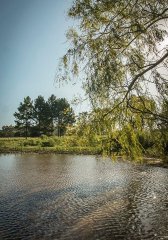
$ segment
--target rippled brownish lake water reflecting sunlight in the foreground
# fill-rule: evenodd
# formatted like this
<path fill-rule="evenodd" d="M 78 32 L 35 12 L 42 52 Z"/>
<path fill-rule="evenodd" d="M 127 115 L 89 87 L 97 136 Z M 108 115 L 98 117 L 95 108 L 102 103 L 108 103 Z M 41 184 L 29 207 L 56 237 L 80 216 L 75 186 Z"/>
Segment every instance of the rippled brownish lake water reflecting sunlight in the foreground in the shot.
<path fill-rule="evenodd" d="M 0 155 L 0 239 L 168 239 L 168 169 Z"/>

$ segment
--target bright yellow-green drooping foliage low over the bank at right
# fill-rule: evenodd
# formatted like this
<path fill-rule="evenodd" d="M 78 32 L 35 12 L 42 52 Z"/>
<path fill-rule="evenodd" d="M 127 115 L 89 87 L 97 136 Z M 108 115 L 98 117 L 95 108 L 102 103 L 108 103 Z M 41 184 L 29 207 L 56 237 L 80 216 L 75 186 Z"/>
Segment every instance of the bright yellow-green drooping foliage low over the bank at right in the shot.
<path fill-rule="evenodd" d="M 143 100 L 148 108 L 154 108 L 153 101 Z M 133 96 L 132 103 L 139 109 L 144 107 Z M 110 109 L 96 109 L 90 113 L 79 114 L 73 136 L 80 146 L 99 147 L 105 155 L 123 156 L 131 160 L 141 160 L 143 156 L 163 157 L 167 154 L 168 136 L 161 131 L 152 118 L 146 118 L 140 112 L 116 111 L 115 115 L 106 115 Z M 71 139 L 72 140 L 72 139 Z"/>

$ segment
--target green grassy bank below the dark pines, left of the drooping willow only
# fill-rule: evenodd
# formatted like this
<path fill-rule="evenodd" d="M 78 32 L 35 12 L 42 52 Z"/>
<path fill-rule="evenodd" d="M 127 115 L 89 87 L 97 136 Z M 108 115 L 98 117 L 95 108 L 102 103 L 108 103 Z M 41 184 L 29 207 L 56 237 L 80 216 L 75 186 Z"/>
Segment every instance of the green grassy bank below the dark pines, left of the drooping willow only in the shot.
<path fill-rule="evenodd" d="M 71 153 L 100 154 L 100 145 L 89 146 L 82 139 L 72 136 L 40 138 L 0 138 L 0 153 L 37 152 L 37 153 Z"/>

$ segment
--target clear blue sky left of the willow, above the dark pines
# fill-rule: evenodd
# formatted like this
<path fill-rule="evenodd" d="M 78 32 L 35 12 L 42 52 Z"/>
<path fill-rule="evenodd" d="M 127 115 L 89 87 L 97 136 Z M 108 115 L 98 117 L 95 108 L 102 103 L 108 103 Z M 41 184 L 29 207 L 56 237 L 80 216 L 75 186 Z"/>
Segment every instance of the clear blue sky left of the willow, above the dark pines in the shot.
<path fill-rule="evenodd" d="M 55 76 L 69 47 L 66 31 L 72 0 L 0 0 L 0 128 L 14 125 L 13 114 L 24 97 L 54 94 L 71 101 L 81 83 L 59 87 Z M 87 104 L 73 106 L 76 113 Z"/>

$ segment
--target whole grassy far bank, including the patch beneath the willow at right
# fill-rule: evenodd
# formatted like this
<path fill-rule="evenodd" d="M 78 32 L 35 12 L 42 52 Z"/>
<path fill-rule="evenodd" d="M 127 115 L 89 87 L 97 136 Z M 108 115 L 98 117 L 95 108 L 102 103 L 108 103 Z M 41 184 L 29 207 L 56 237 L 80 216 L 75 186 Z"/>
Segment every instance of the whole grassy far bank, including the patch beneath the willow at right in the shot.
<path fill-rule="evenodd" d="M 47 137 L 38 138 L 0 138 L 0 153 L 69 153 L 69 154 L 106 154 L 102 151 L 102 141 L 77 136 Z M 113 153 L 112 153 L 113 154 Z M 118 152 L 120 155 L 120 153 Z M 115 154 L 113 155 L 114 158 Z M 125 157 L 124 157 L 125 159 Z M 130 159 L 133 160 L 133 159 Z M 138 160 L 138 159 L 137 159 Z M 144 154 L 140 162 L 149 165 L 160 166 L 168 164 L 167 159 L 163 159 L 156 154 Z"/>

